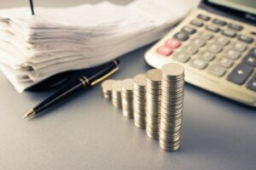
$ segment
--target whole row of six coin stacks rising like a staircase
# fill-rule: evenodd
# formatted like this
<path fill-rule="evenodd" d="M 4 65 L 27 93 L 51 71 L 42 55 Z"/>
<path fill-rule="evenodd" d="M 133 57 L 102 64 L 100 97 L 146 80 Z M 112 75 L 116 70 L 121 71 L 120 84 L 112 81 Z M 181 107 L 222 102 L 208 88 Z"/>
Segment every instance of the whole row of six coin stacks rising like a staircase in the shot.
<path fill-rule="evenodd" d="M 160 148 L 178 150 L 183 117 L 184 69 L 170 63 L 125 80 L 102 82 L 102 96 L 133 119 L 136 127 L 146 129 Z"/>

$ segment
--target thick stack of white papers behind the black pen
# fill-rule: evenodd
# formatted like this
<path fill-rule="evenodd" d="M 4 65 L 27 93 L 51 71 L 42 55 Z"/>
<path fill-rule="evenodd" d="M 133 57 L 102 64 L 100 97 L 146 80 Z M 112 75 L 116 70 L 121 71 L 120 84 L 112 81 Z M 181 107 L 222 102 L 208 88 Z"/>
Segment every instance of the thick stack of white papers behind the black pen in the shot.
<path fill-rule="evenodd" d="M 195 4 L 194 4 L 195 5 Z M 100 65 L 163 37 L 193 7 L 181 0 L 0 10 L 0 69 L 18 92 Z"/>

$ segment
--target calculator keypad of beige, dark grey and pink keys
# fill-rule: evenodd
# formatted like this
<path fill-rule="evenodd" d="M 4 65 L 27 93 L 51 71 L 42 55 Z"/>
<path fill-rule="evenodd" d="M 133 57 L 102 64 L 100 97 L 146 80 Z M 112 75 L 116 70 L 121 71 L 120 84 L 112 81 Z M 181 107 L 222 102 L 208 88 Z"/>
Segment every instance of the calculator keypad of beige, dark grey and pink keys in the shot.
<path fill-rule="evenodd" d="M 197 15 L 197 19 L 190 20 L 190 26 L 183 26 L 171 39 L 157 48 L 157 52 L 164 56 L 174 53 L 172 59 L 181 63 L 189 61 L 189 65 L 198 70 L 207 68 L 207 72 L 216 77 L 223 77 L 236 64 L 237 59 L 245 56 L 227 77 L 230 82 L 243 84 L 256 66 L 256 48 L 251 49 L 247 55 L 243 54 L 248 48 L 247 44 L 254 41 L 253 37 L 237 35 L 237 31 L 241 31 L 243 26 L 218 19 L 209 23 L 209 20 L 212 19 L 207 15 Z M 197 28 L 202 26 L 205 31 L 198 32 Z M 194 34 L 196 36 L 190 38 Z M 183 45 L 182 42 L 186 41 L 189 42 Z M 177 48 L 179 51 L 175 53 Z"/>

